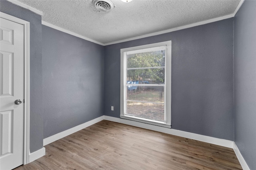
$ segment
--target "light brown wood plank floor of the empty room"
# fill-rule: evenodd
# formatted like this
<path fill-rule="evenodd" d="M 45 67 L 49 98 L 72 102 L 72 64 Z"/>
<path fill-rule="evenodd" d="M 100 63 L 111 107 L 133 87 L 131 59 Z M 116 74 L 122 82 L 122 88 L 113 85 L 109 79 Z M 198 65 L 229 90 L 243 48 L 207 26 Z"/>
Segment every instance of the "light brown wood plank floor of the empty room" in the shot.
<path fill-rule="evenodd" d="M 45 148 L 15 170 L 242 169 L 233 149 L 105 120 Z"/>

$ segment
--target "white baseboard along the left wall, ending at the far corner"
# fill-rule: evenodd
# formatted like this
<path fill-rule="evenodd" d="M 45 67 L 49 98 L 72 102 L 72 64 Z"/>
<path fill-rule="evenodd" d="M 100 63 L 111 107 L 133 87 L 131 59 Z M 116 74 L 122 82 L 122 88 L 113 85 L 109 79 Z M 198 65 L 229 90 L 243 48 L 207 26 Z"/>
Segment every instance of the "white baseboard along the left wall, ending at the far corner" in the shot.
<path fill-rule="evenodd" d="M 75 127 L 72 127 L 71 129 L 68 129 L 66 131 L 62 131 L 60 133 L 57 133 L 55 135 L 52 135 L 50 137 L 47 137 L 43 140 L 43 145 L 48 145 L 49 143 L 52 143 L 54 141 L 57 141 L 63 137 L 66 137 L 68 135 L 71 135 L 72 133 L 75 133 L 77 131 L 80 131 L 88 126 L 91 126 L 95 123 L 98 123 L 99 121 L 102 121 L 104 120 L 104 116 L 101 116 L 101 117 L 97 117 L 96 119 L 92 119 L 91 121 L 88 121 L 86 123 L 83 123 L 81 125 L 78 125 L 78 126 L 75 126 Z"/>

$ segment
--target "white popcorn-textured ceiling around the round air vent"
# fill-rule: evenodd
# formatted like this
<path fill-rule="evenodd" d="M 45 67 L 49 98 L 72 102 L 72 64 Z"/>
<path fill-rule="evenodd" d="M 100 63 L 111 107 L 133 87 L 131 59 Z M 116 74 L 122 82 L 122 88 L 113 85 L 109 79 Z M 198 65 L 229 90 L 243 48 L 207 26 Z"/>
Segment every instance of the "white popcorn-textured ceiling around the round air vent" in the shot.
<path fill-rule="evenodd" d="M 112 0 L 99 12 L 92 0 L 19 0 L 42 20 L 106 44 L 233 14 L 240 0 Z"/>

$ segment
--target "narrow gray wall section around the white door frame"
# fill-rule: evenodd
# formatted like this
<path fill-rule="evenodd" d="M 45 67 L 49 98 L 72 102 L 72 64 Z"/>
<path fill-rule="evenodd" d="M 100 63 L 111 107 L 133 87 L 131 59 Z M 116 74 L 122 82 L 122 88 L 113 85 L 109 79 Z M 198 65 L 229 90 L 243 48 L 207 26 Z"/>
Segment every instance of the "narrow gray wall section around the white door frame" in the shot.
<path fill-rule="evenodd" d="M 30 22 L 30 152 L 43 147 L 41 16 L 0 1 L 0 11 Z"/>

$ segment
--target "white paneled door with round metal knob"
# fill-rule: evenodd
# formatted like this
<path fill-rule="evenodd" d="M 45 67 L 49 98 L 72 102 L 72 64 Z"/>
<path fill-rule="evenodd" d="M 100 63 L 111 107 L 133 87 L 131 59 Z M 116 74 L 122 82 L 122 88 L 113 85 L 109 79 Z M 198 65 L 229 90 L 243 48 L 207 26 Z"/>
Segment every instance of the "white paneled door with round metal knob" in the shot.
<path fill-rule="evenodd" d="M 0 170 L 23 164 L 23 29 L 22 24 L 0 18 Z"/>

